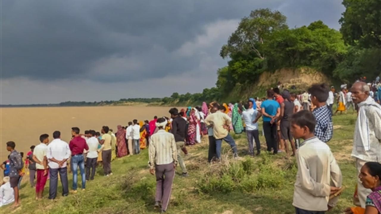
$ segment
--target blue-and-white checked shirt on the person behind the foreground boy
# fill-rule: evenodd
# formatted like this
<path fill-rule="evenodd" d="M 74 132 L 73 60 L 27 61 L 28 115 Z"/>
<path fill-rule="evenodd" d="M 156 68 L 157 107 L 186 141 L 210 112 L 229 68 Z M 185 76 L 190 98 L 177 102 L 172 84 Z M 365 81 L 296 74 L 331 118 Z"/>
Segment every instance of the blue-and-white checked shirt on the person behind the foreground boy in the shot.
<path fill-rule="evenodd" d="M 332 113 L 327 105 L 314 109 L 312 113 L 316 119 L 315 136 L 327 143 L 333 135 Z"/>

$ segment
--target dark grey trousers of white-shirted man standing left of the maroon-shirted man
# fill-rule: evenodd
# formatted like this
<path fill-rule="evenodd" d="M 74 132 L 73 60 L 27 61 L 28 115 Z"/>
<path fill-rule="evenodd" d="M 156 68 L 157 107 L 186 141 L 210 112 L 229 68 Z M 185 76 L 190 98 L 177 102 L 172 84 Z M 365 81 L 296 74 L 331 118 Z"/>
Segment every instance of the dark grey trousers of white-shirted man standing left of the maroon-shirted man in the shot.
<path fill-rule="evenodd" d="M 62 196 L 69 195 L 69 184 L 67 182 L 67 167 L 58 169 L 49 168 L 49 199 L 54 199 L 57 196 L 58 172 L 62 184 Z"/>

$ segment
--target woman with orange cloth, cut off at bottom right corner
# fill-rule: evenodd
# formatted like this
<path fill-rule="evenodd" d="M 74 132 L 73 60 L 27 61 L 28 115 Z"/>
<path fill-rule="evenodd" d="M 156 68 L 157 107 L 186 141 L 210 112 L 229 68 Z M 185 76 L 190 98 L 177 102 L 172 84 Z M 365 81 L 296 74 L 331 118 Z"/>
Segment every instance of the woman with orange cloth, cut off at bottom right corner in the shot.
<path fill-rule="evenodd" d="M 365 210 L 359 207 L 347 208 L 345 213 L 381 214 L 381 164 L 377 162 L 365 163 L 360 170 L 359 178 L 362 185 L 367 189 L 371 189 L 372 193 L 367 196 Z"/>

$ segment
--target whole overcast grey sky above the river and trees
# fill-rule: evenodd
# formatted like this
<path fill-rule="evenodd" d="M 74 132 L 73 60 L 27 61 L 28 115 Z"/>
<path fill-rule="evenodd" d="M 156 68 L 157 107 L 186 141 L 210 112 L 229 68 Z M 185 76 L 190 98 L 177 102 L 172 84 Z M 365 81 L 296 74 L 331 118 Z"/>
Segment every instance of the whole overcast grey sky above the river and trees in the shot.
<path fill-rule="evenodd" d="M 341 0 L 1 1 L 2 104 L 164 97 L 215 86 L 251 10 L 339 29 Z"/>

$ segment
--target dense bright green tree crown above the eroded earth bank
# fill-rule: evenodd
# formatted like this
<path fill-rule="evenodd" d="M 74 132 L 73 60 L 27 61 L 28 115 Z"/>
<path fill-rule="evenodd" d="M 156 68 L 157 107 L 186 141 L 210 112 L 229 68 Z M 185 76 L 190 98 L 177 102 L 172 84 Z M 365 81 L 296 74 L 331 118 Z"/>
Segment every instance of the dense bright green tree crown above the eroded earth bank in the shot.
<path fill-rule="evenodd" d="M 340 32 L 316 21 L 308 27 L 274 32 L 264 50 L 268 54 L 267 64 L 273 70 L 311 66 L 332 75 L 347 47 Z"/>

